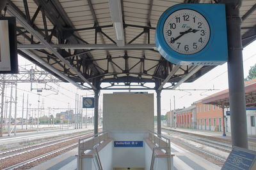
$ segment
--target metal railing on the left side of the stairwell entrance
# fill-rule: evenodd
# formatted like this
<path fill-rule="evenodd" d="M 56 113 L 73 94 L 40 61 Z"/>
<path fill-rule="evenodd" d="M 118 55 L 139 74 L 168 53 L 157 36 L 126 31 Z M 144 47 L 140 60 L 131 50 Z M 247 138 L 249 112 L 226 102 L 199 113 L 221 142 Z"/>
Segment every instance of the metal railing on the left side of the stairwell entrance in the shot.
<path fill-rule="evenodd" d="M 83 158 L 96 159 L 97 168 L 102 170 L 102 165 L 100 162 L 99 152 L 97 147 L 108 139 L 108 132 L 100 132 L 93 136 L 86 138 L 81 138 L 78 141 L 78 159 L 77 167 L 79 170 L 83 169 Z M 91 151 L 91 152 L 90 152 Z M 92 153 L 92 154 L 90 154 Z"/>

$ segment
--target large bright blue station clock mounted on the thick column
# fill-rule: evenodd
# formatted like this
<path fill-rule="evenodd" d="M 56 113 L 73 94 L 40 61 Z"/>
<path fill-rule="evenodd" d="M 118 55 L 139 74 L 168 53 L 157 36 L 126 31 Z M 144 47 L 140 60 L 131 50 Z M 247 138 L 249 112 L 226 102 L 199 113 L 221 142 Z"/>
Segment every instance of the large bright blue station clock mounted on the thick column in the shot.
<path fill-rule="evenodd" d="M 179 65 L 220 65 L 228 60 L 225 4 L 177 4 L 164 11 L 156 47 Z"/>

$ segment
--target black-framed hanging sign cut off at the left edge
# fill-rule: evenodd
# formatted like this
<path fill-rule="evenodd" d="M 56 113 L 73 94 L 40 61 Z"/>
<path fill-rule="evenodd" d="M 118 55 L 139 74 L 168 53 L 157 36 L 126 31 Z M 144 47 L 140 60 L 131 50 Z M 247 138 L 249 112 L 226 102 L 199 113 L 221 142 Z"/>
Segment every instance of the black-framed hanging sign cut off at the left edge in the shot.
<path fill-rule="evenodd" d="M 16 18 L 0 17 L 0 74 L 17 73 Z"/>

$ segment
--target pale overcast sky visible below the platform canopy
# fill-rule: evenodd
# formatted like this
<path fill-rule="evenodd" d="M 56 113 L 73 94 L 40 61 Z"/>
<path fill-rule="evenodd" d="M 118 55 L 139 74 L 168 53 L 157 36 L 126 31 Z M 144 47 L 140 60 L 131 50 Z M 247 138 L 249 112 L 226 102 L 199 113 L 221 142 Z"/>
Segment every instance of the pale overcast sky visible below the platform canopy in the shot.
<path fill-rule="evenodd" d="M 244 64 L 244 77 L 248 76 L 250 67 L 256 64 L 256 41 L 246 46 L 243 50 L 243 64 Z M 29 60 L 24 59 L 19 56 L 19 66 L 22 66 L 26 69 L 30 69 L 31 66 L 35 69 L 40 67 L 35 67 Z M 42 110 L 41 115 L 48 115 L 60 113 L 60 111 L 65 111 L 68 108 L 74 109 L 76 107 L 76 93 L 80 96 L 93 97 L 92 90 L 77 90 L 77 88 L 70 83 L 47 83 L 47 85 L 54 87 L 58 90 L 58 94 L 52 90 L 43 90 L 40 93 L 39 104 Z M 33 88 L 41 88 L 44 85 L 38 85 L 33 83 Z M 191 90 L 184 90 L 191 89 Z M 205 89 L 205 90 L 193 90 L 193 89 Z M 175 108 L 183 108 L 191 106 L 195 101 L 203 99 L 204 97 L 210 96 L 220 90 L 228 89 L 228 75 L 227 75 L 227 63 L 217 66 L 208 73 L 204 74 L 198 78 L 198 80 L 193 83 L 182 83 L 180 87 L 176 90 L 163 90 L 161 93 L 161 114 L 165 115 L 167 111 L 170 111 L 170 107 L 174 108 L 174 96 L 175 96 Z M 7 99 L 10 101 L 10 85 L 7 86 Z M 116 92 L 116 91 L 115 91 Z M 128 92 L 128 90 L 123 90 L 122 92 Z M 136 91 L 138 92 L 138 90 Z M 146 92 L 146 91 L 145 91 Z M 113 93 L 111 90 L 101 90 L 99 108 L 102 109 L 102 94 L 104 93 Z M 149 90 L 148 93 L 154 93 L 154 113 L 156 115 L 156 92 L 154 90 Z M 15 90 L 13 89 L 13 97 Z M 29 114 L 32 113 L 35 115 L 36 108 L 38 108 L 38 93 L 36 90 L 30 89 L 30 83 L 19 83 L 17 87 L 17 117 L 22 115 L 22 95 L 24 94 L 24 114 L 26 115 L 26 103 L 27 95 L 29 95 L 29 104 L 31 104 L 32 111 L 29 111 Z M 44 102 L 43 102 L 44 101 Z M 13 104 L 14 105 L 14 104 Z M 10 106 L 10 105 L 9 105 Z M 8 110 L 9 111 L 9 110 Z M 85 113 L 85 110 L 83 110 Z M 12 114 L 14 114 L 14 106 L 12 107 Z M 88 109 L 88 115 L 92 115 L 93 110 Z"/>

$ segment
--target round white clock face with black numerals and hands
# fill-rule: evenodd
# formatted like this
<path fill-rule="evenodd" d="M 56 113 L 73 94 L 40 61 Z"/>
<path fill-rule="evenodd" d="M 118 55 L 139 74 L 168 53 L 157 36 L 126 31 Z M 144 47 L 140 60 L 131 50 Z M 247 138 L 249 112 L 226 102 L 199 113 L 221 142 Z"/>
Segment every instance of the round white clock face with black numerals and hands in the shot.
<path fill-rule="evenodd" d="M 172 50 L 185 55 L 204 49 L 210 34 L 207 20 L 194 10 L 174 11 L 164 22 L 164 40 Z"/>

